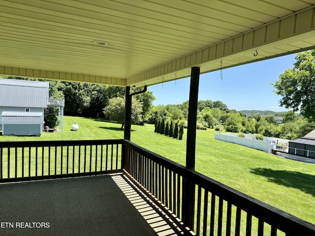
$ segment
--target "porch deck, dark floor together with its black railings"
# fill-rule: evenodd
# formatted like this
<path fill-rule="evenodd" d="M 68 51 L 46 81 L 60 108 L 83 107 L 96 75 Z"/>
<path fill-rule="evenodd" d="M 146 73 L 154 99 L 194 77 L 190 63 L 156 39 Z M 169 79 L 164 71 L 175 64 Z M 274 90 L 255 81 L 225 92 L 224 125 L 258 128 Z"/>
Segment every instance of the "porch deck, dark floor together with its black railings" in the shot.
<path fill-rule="evenodd" d="M 15 227 L 1 228 L 4 235 L 315 232 L 311 223 L 128 140 L 1 142 L 0 163 L 0 220 Z M 195 189 L 189 203 L 188 184 Z M 50 227 L 16 228 L 28 221 Z"/>

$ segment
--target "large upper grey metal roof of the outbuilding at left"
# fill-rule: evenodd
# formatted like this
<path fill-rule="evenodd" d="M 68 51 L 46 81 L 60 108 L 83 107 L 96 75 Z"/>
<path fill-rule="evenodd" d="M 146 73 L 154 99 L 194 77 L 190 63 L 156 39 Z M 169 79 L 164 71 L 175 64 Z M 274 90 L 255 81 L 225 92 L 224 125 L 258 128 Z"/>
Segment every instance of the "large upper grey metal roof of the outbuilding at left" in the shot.
<path fill-rule="evenodd" d="M 0 107 L 47 107 L 49 83 L 0 79 Z"/>

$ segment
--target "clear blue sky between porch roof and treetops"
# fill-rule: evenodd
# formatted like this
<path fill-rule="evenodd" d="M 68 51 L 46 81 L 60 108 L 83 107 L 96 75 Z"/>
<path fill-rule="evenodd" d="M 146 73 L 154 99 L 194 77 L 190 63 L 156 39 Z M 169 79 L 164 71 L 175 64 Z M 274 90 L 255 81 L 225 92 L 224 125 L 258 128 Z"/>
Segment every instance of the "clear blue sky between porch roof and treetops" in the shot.
<path fill-rule="evenodd" d="M 287 111 L 279 107 L 280 96 L 272 90 L 271 82 L 292 68 L 296 54 L 235 66 L 200 75 L 198 100 L 220 100 L 229 109 Z M 224 61 L 223 61 L 224 66 Z M 154 105 L 180 104 L 189 99 L 190 77 L 148 87 L 157 98 Z"/>

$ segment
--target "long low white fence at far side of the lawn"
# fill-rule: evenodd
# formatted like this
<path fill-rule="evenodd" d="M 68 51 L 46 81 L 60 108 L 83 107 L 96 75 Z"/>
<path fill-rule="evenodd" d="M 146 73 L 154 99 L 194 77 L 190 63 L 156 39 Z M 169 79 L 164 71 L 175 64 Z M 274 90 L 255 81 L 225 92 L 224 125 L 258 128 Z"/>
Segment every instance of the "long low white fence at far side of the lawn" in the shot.
<path fill-rule="evenodd" d="M 215 133 L 215 139 L 233 143 L 233 144 L 239 144 L 242 146 L 246 146 L 248 148 L 255 148 L 255 149 L 262 150 L 269 153 L 271 153 L 271 150 L 274 148 L 274 145 L 270 144 L 270 142 L 267 142 L 267 141 L 240 138 L 240 137 L 232 136 L 230 134 Z"/>

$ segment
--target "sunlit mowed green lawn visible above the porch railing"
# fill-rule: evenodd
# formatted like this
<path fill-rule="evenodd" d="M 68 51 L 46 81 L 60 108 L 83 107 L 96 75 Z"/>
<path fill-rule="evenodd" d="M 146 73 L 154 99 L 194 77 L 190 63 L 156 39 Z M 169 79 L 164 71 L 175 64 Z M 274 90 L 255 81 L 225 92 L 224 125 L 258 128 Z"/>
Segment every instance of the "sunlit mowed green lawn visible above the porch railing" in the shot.
<path fill-rule="evenodd" d="M 72 123 L 78 131 L 70 131 Z M 122 139 L 121 124 L 64 117 L 63 133 L 5 137 L 0 141 Z M 154 125 L 132 125 L 131 141 L 185 165 L 183 140 L 154 133 Z M 214 130 L 197 130 L 195 170 L 245 194 L 315 224 L 315 165 L 214 139 Z"/>

